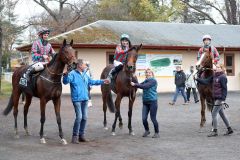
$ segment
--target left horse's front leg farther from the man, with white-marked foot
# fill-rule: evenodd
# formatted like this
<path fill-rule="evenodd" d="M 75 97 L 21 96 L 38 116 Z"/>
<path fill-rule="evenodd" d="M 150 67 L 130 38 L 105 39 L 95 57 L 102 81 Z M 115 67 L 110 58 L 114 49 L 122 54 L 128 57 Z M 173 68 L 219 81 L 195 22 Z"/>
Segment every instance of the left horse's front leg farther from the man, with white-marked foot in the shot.
<path fill-rule="evenodd" d="M 43 126 L 45 123 L 45 109 L 46 109 L 46 100 L 44 98 L 40 99 L 40 111 L 41 111 L 41 118 L 40 118 L 40 122 L 41 122 L 41 129 L 40 129 L 40 143 L 45 144 L 46 140 L 43 137 Z"/>

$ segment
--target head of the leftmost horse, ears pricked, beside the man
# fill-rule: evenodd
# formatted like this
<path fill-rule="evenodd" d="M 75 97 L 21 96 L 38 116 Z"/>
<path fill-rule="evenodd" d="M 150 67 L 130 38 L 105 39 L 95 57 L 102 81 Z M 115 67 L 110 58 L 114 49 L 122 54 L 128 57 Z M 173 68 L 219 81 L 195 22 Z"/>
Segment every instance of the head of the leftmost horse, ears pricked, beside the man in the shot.
<path fill-rule="evenodd" d="M 73 40 L 71 40 L 70 44 L 67 44 L 66 39 L 64 39 L 59 52 L 61 61 L 68 66 L 76 63 L 76 51 L 72 48 L 72 46 Z"/>

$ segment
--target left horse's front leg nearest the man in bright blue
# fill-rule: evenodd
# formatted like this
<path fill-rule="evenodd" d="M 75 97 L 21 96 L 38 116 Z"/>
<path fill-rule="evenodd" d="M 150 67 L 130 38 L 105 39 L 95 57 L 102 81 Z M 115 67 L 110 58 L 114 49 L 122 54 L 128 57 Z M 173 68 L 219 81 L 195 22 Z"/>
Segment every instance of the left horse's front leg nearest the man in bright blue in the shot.
<path fill-rule="evenodd" d="M 67 141 L 63 137 L 63 131 L 62 131 L 62 125 L 61 125 L 61 115 L 60 115 L 60 106 L 61 106 L 61 98 L 57 98 L 53 100 L 57 124 L 58 124 L 58 130 L 59 130 L 59 137 L 61 138 L 62 144 L 67 144 Z"/>

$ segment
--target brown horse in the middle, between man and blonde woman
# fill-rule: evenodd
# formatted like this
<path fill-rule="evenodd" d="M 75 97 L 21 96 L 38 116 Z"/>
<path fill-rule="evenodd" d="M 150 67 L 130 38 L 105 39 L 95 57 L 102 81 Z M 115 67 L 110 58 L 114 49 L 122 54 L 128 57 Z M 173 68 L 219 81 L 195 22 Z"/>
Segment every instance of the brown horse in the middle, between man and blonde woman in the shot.
<path fill-rule="evenodd" d="M 134 73 L 136 71 L 136 61 L 138 58 L 138 51 L 141 49 L 142 45 L 140 46 L 134 46 L 128 50 L 127 57 L 126 57 L 126 63 L 123 65 L 123 70 L 121 70 L 117 77 L 114 85 L 111 84 L 103 84 L 101 86 L 102 91 L 102 100 L 103 100 L 103 112 L 104 112 L 104 127 L 107 129 L 107 120 L 106 120 L 106 111 L 107 106 L 110 110 L 110 112 L 114 112 L 115 110 L 115 120 L 112 125 L 112 135 L 115 135 L 115 128 L 116 128 L 116 122 L 119 118 L 119 128 L 122 128 L 122 116 L 120 113 L 120 103 L 123 97 L 129 98 L 129 110 L 128 110 L 128 129 L 129 134 L 134 135 L 134 132 L 132 130 L 132 107 L 133 103 L 135 101 L 136 97 L 136 91 L 137 89 L 132 87 L 130 85 L 131 81 L 137 81 L 137 77 L 134 76 Z M 113 65 L 109 65 L 106 68 L 104 68 L 101 79 L 107 78 L 109 72 L 113 68 Z M 115 100 L 115 105 L 113 103 L 111 90 L 117 94 L 117 98 Z"/>

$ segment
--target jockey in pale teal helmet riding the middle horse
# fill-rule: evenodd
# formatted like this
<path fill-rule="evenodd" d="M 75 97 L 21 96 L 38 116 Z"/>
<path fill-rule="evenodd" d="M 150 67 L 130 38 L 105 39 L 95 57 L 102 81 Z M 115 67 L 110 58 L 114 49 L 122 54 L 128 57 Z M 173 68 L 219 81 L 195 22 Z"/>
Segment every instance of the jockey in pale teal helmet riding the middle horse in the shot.
<path fill-rule="evenodd" d="M 131 41 L 129 39 L 129 35 L 122 34 L 120 37 L 120 44 L 117 45 L 114 55 L 114 69 L 108 75 L 108 79 L 111 81 L 114 74 L 118 73 L 122 68 L 123 64 L 126 61 L 127 51 L 131 48 Z"/>

